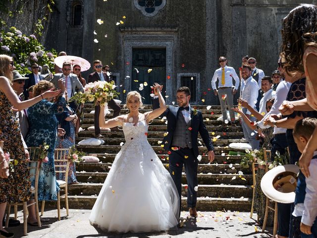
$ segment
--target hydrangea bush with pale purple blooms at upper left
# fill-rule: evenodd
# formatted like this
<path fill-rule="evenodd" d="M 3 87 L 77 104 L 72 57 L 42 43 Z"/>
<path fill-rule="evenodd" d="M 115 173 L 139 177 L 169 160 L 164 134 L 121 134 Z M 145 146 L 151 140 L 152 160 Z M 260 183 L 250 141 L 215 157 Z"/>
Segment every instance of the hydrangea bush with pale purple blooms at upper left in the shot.
<path fill-rule="evenodd" d="M 57 53 L 54 49 L 50 52 L 37 40 L 35 35 L 26 36 L 15 27 L 9 32 L 0 32 L 0 54 L 12 56 L 14 65 L 21 74 L 31 73 L 31 64 L 47 64 L 51 71 L 54 70 L 54 58 Z"/>

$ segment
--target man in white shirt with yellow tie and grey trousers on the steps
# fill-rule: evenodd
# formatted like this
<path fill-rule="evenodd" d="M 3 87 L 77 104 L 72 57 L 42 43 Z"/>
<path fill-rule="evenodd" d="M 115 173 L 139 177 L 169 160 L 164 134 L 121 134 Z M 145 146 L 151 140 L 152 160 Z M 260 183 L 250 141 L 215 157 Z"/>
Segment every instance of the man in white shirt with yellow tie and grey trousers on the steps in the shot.
<path fill-rule="evenodd" d="M 228 105 L 231 125 L 235 125 L 234 112 L 231 110 L 231 108 L 233 107 L 233 95 L 235 95 L 237 92 L 240 80 L 234 68 L 227 66 L 227 59 L 225 57 L 221 56 L 219 58 L 219 64 L 221 67 L 214 71 L 213 77 L 211 79 L 211 87 L 213 89 L 214 95 L 218 95 L 219 97 L 223 122 L 228 119 Z M 216 89 L 217 79 L 218 90 Z M 232 79 L 235 81 L 235 86 L 233 86 Z"/>

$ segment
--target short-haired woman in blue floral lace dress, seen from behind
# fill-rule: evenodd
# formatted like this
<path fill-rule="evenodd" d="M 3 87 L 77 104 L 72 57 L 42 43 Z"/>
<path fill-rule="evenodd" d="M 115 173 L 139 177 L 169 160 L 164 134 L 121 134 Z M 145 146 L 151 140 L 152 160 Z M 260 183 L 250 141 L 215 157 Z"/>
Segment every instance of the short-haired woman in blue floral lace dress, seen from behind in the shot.
<path fill-rule="evenodd" d="M 33 95 L 36 97 L 51 88 L 54 88 L 53 83 L 41 80 L 34 87 Z M 61 80 L 59 80 L 59 88 L 61 89 L 62 95 L 64 95 L 65 87 Z M 26 144 L 28 146 L 40 146 L 46 142 L 50 146 L 48 150 L 49 161 L 48 163 L 41 164 L 38 184 L 39 201 L 56 201 L 57 192 L 59 191 L 54 167 L 54 149 L 58 124 L 55 115 L 64 112 L 66 101 L 61 95 L 57 98 L 55 103 L 50 102 L 51 100 L 52 99 L 42 100 L 28 109 L 30 128 L 26 137 Z M 34 183 L 34 180 L 32 183 Z M 29 224 L 35 224 L 37 222 L 36 215 L 35 213 L 33 214 L 35 211 L 33 207 L 34 205 L 29 209 L 29 211 L 31 211 L 28 217 Z"/>

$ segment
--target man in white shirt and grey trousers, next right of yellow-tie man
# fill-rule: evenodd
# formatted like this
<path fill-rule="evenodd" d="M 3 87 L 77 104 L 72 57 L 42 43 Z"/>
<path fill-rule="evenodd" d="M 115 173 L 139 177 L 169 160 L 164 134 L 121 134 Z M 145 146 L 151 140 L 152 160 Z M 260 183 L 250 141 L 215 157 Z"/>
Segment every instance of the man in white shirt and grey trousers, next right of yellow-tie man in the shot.
<path fill-rule="evenodd" d="M 255 109 L 257 103 L 257 98 L 259 94 L 258 83 L 251 76 L 251 66 L 244 64 L 242 66 L 242 78 L 244 79 L 244 84 L 242 88 L 242 99 L 246 100 L 250 107 Z M 251 112 L 247 108 L 242 108 L 242 112 L 251 121 L 255 121 L 256 118 L 251 116 Z M 242 119 L 242 129 L 244 138 L 250 143 L 252 149 L 259 149 L 260 141 L 256 139 L 256 132 L 252 130 Z"/>

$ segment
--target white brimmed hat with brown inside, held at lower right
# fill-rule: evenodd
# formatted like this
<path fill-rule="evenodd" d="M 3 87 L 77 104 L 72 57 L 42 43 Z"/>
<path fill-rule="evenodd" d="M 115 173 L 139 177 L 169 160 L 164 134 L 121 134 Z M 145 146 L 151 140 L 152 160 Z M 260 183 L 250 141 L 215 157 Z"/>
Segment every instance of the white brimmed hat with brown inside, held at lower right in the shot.
<path fill-rule="evenodd" d="M 297 185 L 297 165 L 280 165 L 269 170 L 261 179 L 265 196 L 279 203 L 293 203 Z M 275 187 L 277 187 L 275 189 Z"/>

